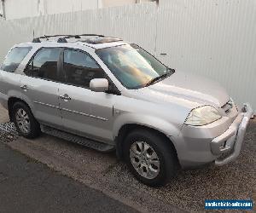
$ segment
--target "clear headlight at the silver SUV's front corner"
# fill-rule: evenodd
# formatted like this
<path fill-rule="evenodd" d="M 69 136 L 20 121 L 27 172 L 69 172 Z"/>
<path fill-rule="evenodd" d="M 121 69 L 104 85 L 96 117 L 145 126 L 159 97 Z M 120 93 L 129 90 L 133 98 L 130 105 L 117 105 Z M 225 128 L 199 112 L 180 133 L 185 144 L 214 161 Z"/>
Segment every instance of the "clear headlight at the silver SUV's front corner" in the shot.
<path fill-rule="evenodd" d="M 185 124 L 192 126 L 202 126 L 210 124 L 219 118 L 221 118 L 221 115 L 214 107 L 198 107 L 189 112 L 189 116 L 186 119 Z"/>

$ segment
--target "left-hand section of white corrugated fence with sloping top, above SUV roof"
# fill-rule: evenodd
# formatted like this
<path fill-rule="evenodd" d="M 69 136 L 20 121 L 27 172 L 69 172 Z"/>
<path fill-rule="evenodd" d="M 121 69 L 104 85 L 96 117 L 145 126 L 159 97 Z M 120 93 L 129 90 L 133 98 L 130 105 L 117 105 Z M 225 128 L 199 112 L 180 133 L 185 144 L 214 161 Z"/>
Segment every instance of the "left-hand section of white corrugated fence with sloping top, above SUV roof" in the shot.
<path fill-rule="evenodd" d="M 31 42 L 33 32 L 35 37 L 81 33 L 122 37 L 154 53 L 156 11 L 155 3 L 127 4 L 123 7 L 0 21 L 0 63 L 15 43 Z"/>

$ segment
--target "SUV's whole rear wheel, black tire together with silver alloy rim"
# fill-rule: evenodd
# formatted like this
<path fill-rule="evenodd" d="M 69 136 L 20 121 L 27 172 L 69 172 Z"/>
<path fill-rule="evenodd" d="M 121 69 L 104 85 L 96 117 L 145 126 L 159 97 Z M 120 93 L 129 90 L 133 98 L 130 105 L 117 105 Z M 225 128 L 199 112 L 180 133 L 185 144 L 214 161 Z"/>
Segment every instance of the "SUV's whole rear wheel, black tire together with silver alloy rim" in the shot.
<path fill-rule="evenodd" d="M 15 123 L 16 130 L 23 137 L 33 139 L 41 133 L 38 121 L 24 102 L 15 102 L 12 108 L 12 120 Z"/>

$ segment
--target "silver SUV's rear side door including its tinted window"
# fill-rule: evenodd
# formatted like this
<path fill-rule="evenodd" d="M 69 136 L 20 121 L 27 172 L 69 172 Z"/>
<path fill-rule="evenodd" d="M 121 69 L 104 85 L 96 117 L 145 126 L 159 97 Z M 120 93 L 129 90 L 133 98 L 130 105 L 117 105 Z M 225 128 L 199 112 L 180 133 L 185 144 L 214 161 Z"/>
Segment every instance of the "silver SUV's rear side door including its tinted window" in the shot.
<path fill-rule="evenodd" d="M 59 85 L 61 48 L 42 48 L 32 57 L 20 78 L 23 99 L 33 107 L 40 123 L 61 126 Z"/>

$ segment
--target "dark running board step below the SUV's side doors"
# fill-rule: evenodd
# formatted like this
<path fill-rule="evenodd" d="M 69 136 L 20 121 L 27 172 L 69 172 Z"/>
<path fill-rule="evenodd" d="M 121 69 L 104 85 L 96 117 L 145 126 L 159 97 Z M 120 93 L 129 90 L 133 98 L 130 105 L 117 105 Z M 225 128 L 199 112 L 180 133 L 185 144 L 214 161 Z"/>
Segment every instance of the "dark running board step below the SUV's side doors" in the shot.
<path fill-rule="evenodd" d="M 99 141 L 93 141 L 93 140 L 90 140 L 88 138 L 85 138 L 85 137 L 82 137 L 79 135 L 73 135 L 71 133 L 67 133 L 62 130 L 56 130 L 55 128 L 45 126 L 45 125 L 41 125 L 41 131 L 47 135 L 59 137 L 66 141 L 72 141 L 72 142 L 78 143 L 80 145 L 83 145 L 85 147 L 90 147 L 90 148 L 95 149 L 102 153 L 109 153 L 115 149 L 114 146 L 111 146 L 111 145 L 108 145 L 108 144 L 105 144 L 105 143 L 102 143 Z"/>

